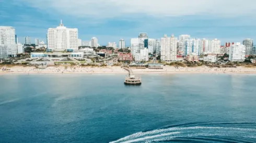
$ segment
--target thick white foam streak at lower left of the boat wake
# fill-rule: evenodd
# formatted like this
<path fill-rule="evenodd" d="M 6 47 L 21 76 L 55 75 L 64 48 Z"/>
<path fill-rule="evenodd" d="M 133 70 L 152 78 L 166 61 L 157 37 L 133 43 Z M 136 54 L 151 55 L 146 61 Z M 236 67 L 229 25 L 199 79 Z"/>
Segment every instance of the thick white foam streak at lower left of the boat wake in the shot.
<path fill-rule="evenodd" d="M 130 143 L 130 142 L 143 141 L 143 140 L 147 140 L 147 139 L 154 139 L 154 138 L 158 138 L 158 137 L 170 136 L 170 135 L 175 135 L 175 134 L 180 134 L 180 132 L 172 132 L 172 133 L 165 133 L 165 134 L 154 135 L 154 136 L 146 136 L 146 137 L 136 138 L 136 139 L 127 140 L 127 141 L 123 141 L 123 139 L 120 139 L 117 141 L 112 141 L 110 143 L 115 143 L 115 142 L 120 142 L 120 141 L 122 141 L 122 143 Z"/>

